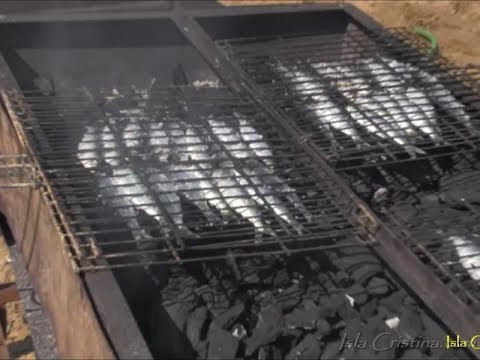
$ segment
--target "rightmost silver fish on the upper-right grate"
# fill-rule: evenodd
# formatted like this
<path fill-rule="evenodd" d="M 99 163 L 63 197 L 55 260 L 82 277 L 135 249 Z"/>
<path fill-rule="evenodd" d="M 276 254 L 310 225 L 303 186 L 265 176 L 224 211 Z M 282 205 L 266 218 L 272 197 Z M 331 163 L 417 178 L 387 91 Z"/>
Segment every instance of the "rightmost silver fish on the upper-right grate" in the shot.
<path fill-rule="evenodd" d="M 435 99 L 437 104 L 441 106 L 447 114 L 457 119 L 458 122 L 472 133 L 476 135 L 480 134 L 480 130 L 473 126 L 472 119 L 470 115 L 467 114 L 465 105 L 459 102 L 453 96 L 452 92 L 448 90 L 434 75 L 431 75 L 411 64 L 401 63 L 394 59 L 388 60 L 392 63 L 392 66 L 397 67 L 401 71 L 408 71 L 412 76 L 417 75 L 420 80 L 427 85 L 424 90 L 425 93 L 431 99 Z"/>

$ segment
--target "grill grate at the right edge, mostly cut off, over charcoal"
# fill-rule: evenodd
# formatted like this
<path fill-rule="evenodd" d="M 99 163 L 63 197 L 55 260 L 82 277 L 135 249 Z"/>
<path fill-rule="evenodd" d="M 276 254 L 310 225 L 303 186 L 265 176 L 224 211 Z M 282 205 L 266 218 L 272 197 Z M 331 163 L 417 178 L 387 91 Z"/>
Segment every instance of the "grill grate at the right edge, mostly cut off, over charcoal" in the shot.
<path fill-rule="evenodd" d="M 402 216 L 390 213 L 390 220 L 406 243 L 429 264 L 466 304 L 480 305 L 480 228 L 477 208 L 464 201 L 464 211 L 434 207 Z M 468 209 L 468 210 L 466 210 Z"/>

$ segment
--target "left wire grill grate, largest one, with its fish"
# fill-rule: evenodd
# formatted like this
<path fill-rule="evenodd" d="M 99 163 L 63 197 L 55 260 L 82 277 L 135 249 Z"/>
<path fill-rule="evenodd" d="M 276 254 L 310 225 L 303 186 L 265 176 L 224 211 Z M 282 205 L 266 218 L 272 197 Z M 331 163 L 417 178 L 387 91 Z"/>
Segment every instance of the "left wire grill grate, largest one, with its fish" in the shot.
<path fill-rule="evenodd" d="M 361 211 L 302 146 L 225 89 L 6 101 L 82 270 L 358 246 L 363 236 Z"/>

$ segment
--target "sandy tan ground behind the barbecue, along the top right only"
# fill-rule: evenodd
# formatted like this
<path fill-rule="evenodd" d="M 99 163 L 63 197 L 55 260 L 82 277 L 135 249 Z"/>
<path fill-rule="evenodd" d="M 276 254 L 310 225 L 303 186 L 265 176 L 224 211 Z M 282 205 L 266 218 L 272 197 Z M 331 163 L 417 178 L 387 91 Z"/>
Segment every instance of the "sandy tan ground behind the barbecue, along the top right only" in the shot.
<path fill-rule="evenodd" d="M 315 1 L 221 0 L 221 2 L 235 6 L 300 4 Z M 447 59 L 458 65 L 480 64 L 480 1 L 363 0 L 347 2 L 359 7 L 388 27 L 426 27 L 437 36 L 440 52 Z"/>

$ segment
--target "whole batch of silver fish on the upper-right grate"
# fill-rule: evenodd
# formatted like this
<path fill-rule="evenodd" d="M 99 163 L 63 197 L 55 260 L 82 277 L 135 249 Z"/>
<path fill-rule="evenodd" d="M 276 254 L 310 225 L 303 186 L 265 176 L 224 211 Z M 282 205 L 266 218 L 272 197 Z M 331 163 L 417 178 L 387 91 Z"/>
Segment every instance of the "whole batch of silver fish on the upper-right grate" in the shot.
<path fill-rule="evenodd" d="M 275 60 L 269 66 L 302 98 L 316 125 L 340 149 L 333 130 L 360 149 L 371 146 L 359 128 L 395 144 L 412 158 L 425 154 L 416 144 L 420 138 L 448 145 L 436 107 L 469 134 L 479 134 L 465 105 L 437 77 L 412 64 L 379 57 L 348 64 L 302 61 L 286 65 Z"/>

